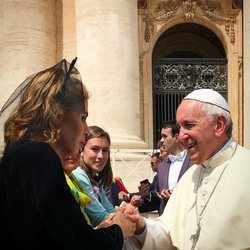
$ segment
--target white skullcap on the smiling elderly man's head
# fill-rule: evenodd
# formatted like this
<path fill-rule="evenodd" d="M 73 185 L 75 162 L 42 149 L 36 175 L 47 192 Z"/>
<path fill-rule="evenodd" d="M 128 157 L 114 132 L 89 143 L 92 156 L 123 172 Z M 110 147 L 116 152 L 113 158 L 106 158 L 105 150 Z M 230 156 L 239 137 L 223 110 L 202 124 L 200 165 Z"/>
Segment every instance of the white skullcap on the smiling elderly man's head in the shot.
<path fill-rule="evenodd" d="M 213 89 L 197 89 L 189 93 L 183 98 L 183 100 L 196 100 L 204 103 L 209 103 L 211 105 L 217 106 L 229 112 L 228 103 L 225 98 Z"/>

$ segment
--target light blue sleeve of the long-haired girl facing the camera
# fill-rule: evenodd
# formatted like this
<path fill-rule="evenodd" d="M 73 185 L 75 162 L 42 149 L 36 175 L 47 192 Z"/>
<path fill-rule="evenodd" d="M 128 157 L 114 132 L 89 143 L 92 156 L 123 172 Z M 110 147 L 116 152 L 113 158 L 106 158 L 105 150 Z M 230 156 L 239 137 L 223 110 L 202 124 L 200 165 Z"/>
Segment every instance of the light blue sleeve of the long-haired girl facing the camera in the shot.
<path fill-rule="evenodd" d="M 93 186 L 91 185 L 88 175 L 83 169 L 78 167 L 73 171 L 79 185 L 92 199 L 92 202 L 85 206 L 85 212 L 88 215 L 93 227 L 96 227 L 102 222 L 109 214 L 110 211 L 106 211 L 105 207 L 98 201 L 94 194 Z"/>

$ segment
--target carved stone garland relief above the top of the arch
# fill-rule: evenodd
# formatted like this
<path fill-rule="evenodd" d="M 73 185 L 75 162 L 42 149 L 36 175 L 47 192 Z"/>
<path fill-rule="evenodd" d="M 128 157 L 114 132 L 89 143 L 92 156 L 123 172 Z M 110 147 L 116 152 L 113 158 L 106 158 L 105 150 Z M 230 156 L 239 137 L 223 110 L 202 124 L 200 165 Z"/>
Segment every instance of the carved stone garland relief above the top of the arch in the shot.
<path fill-rule="evenodd" d="M 234 2 L 236 4 L 237 1 Z M 187 21 L 195 19 L 196 10 L 199 8 L 206 18 L 218 25 L 224 25 L 231 43 L 235 42 L 234 25 L 236 18 L 233 15 L 223 16 L 221 2 L 217 0 L 166 0 L 159 2 L 154 14 L 147 14 L 145 18 L 143 18 L 145 22 L 145 42 L 150 41 L 155 32 L 156 23 L 166 22 L 171 19 L 179 8 L 182 8 L 183 18 Z"/>

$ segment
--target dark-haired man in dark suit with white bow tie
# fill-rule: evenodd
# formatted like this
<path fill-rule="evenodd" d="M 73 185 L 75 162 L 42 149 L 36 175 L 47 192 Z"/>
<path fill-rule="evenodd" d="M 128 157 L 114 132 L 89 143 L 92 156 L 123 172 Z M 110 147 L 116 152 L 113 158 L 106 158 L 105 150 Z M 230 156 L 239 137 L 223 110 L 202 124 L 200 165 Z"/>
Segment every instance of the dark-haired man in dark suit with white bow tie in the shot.
<path fill-rule="evenodd" d="M 139 193 L 143 197 L 143 204 L 150 208 L 157 208 L 159 215 L 163 213 L 177 182 L 192 165 L 187 150 L 184 149 L 179 141 L 179 127 L 175 121 L 163 124 L 160 148 L 168 152 L 168 157 L 159 163 L 156 192 L 150 192 L 150 186 L 143 183 L 138 187 Z M 138 197 L 134 197 L 133 205 L 138 205 L 135 202 L 136 199 Z"/>

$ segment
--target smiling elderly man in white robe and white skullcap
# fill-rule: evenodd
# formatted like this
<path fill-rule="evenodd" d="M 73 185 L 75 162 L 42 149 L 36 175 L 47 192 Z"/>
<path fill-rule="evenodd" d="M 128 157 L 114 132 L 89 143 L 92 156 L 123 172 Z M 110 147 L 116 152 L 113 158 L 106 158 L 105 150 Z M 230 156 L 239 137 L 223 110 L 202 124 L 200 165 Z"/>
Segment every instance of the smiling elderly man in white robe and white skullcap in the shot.
<path fill-rule="evenodd" d="M 250 249 L 250 151 L 232 138 L 226 100 L 212 89 L 188 94 L 176 114 L 195 163 L 162 216 L 140 217 L 142 249 Z"/>

